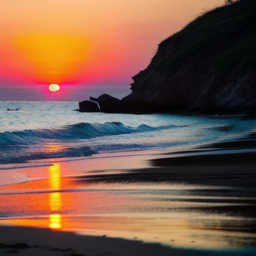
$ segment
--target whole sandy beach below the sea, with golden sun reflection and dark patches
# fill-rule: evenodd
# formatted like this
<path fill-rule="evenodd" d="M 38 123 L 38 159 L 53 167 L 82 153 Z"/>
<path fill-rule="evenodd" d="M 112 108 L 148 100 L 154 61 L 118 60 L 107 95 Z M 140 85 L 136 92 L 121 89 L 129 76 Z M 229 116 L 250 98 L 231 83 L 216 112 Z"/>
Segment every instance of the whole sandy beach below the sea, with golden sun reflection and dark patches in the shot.
<path fill-rule="evenodd" d="M 0 255 L 254 255 L 254 137 L 17 168 L 30 180 L 0 187 Z"/>

